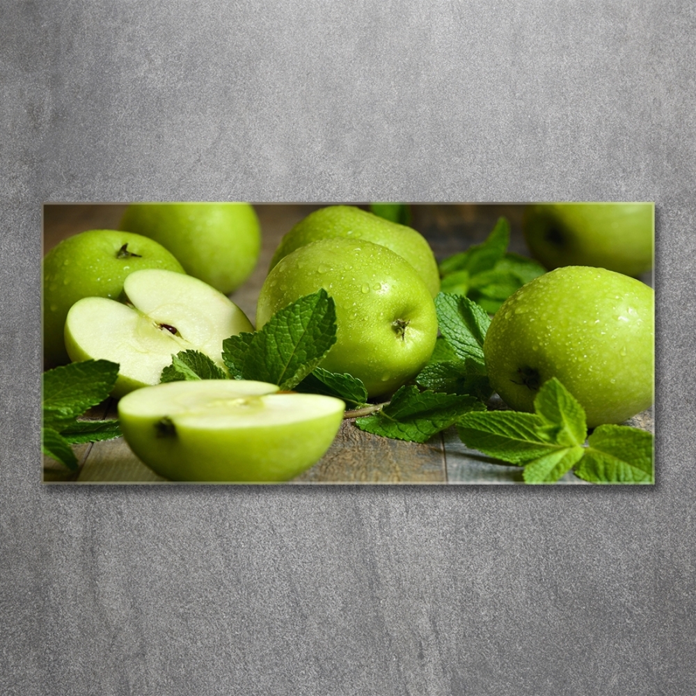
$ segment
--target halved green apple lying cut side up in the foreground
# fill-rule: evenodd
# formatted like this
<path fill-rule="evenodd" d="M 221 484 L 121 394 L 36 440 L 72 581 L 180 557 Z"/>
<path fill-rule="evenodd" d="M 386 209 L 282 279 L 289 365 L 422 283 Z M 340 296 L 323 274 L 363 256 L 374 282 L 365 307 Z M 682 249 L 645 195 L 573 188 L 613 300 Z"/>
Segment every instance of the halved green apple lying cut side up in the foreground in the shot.
<path fill-rule="evenodd" d="M 275 384 L 203 379 L 136 390 L 118 402 L 126 442 L 173 481 L 284 482 L 322 458 L 345 404 Z"/>

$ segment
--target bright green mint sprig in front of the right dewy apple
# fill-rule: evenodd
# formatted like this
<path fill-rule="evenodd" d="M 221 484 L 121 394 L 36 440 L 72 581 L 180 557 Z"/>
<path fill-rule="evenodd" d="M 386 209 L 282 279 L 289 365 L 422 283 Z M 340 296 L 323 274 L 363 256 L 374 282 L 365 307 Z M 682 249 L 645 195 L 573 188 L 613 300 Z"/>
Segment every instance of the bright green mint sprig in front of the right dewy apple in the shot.
<path fill-rule="evenodd" d="M 595 483 L 654 481 L 654 438 L 624 425 L 597 427 L 585 445 L 585 411 L 555 377 L 535 399 L 535 413 L 467 413 L 457 424 L 467 447 L 524 466 L 527 483 L 553 483 L 571 468 Z"/>

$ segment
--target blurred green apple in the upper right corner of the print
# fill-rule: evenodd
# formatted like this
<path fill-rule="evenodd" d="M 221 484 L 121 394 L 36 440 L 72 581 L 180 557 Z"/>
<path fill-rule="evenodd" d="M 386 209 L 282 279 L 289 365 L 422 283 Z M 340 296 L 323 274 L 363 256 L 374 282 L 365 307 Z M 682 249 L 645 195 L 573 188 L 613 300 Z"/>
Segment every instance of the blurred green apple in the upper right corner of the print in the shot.
<path fill-rule="evenodd" d="M 653 267 L 652 203 L 540 203 L 525 208 L 522 229 L 548 269 L 597 266 L 639 276 Z"/>

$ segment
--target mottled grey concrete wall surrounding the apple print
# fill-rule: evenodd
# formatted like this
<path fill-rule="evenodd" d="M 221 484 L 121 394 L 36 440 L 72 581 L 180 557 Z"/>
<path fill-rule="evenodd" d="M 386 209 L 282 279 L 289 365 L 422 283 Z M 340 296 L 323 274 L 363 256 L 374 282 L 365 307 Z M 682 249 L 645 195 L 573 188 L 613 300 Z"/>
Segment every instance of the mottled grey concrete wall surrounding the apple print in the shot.
<path fill-rule="evenodd" d="M 696 693 L 694 35 L 683 0 L 4 1 L 0 693 Z M 655 200 L 658 484 L 42 487 L 41 204 L 154 199 Z"/>

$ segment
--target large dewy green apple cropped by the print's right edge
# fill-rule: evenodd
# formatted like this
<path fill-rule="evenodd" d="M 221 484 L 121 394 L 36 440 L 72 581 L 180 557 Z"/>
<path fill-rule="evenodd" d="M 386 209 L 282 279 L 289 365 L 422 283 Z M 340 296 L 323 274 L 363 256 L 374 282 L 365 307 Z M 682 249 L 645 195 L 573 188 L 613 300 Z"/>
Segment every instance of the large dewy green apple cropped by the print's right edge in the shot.
<path fill-rule="evenodd" d="M 557 377 L 588 427 L 622 423 L 653 402 L 654 292 L 614 271 L 565 266 L 510 296 L 483 345 L 491 386 L 518 411 L 534 411 Z"/>

